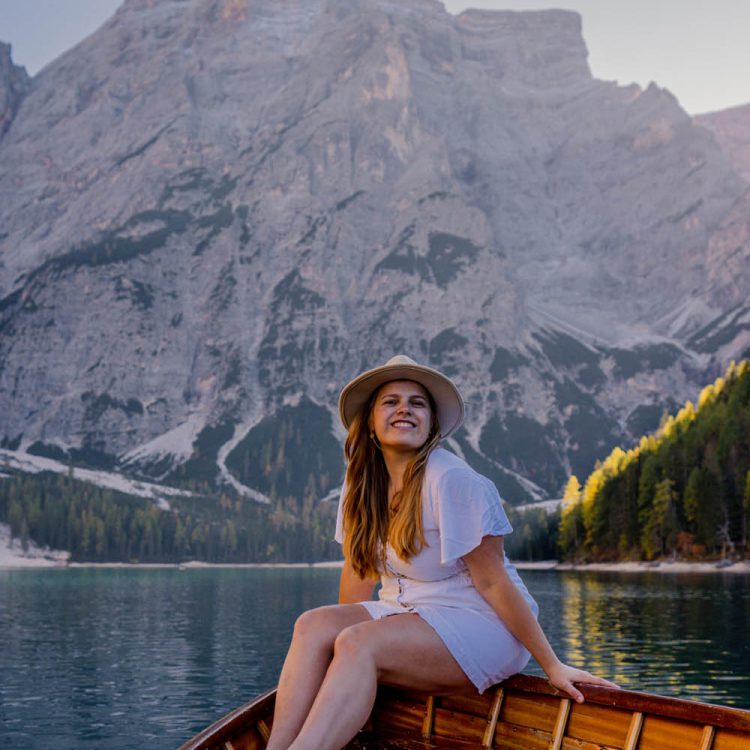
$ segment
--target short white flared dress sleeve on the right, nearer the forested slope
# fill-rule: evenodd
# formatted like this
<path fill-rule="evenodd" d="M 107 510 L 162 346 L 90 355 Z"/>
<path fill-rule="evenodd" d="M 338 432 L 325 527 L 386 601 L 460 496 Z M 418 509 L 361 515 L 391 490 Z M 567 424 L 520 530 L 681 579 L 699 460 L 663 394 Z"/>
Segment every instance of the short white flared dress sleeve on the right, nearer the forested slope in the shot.
<path fill-rule="evenodd" d="M 513 531 L 495 485 L 470 469 L 453 469 L 437 487 L 440 562 L 446 565 L 478 547 L 485 536 Z"/>

